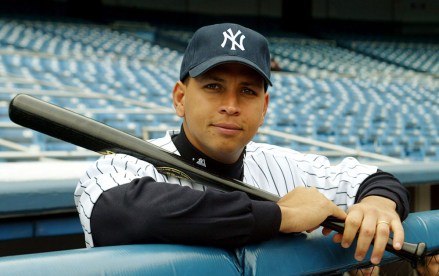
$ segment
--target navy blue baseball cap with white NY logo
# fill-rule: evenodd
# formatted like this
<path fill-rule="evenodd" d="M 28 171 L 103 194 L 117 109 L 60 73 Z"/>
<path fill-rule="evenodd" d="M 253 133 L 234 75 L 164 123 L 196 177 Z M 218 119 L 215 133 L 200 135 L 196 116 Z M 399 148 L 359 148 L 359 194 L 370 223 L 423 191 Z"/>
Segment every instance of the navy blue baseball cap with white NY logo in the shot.
<path fill-rule="evenodd" d="M 215 24 L 198 29 L 183 57 L 180 80 L 193 78 L 223 63 L 238 62 L 270 81 L 270 51 L 267 39 L 258 32 L 233 23 Z"/>

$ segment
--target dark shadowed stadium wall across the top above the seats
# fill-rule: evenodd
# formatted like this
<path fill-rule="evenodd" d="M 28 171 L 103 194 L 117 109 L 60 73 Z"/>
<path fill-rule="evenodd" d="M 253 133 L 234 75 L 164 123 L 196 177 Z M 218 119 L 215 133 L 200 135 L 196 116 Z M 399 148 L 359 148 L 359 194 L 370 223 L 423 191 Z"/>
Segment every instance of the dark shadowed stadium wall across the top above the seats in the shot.
<path fill-rule="evenodd" d="M 2 2 L 0 14 L 189 27 L 233 21 L 271 32 L 307 32 L 328 27 L 358 32 L 359 26 L 374 32 L 439 33 L 439 2 L 435 0 L 7 0 Z"/>

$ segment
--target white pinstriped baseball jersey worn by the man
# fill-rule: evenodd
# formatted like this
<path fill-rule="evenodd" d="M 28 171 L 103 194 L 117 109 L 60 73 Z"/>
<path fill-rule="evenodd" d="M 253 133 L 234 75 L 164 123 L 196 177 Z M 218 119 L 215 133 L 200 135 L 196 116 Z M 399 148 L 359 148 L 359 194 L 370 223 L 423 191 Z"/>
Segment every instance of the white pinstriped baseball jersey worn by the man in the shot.
<path fill-rule="evenodd" d="M 171 141 L 171 135 L 176 133 L 178 131 L 170 131 L 165 137 L 150 142 L 179 154 Z M 250 142 L 244 158 L 243 182 L 281 197 L 295 187 L 313 186 L 346 210 L 354 204 L 355 195 L 363 180 L 376 171 L 376 167 L 360 164 L 355 158 L 348 157 L 338 165 L 331 166 L 324 156 Z M 132 156 L 103 156 L 81 177 L 75 190 L 75 204 L 87 247 L 93 247 L 90 216 L 99 196 L 113 187 L 145 176 L 150 176 L 157 182 L 204 189 L 200 184 L 160 174 L 150 163 Z"/>

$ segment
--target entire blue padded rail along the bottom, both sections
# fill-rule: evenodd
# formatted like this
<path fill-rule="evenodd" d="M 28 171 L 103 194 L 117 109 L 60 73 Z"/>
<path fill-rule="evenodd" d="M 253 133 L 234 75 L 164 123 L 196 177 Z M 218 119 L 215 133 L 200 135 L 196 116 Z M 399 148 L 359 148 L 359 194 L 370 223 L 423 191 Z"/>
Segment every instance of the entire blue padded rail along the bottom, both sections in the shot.
<path fill-rule="evenodd" d="M 404 222 L 407 242 L 423 241 L 439 250 L 439 210 L 412 213 Z M 285 235 L 224 250 L 185 245 L 127 245 L 73 249 L 0 258 L 5 275 L 309 275 L 346 271 L 357 262 L 354 248 L 331 237 Z M 386 253 L 383 263 L 396 260 Z"/>

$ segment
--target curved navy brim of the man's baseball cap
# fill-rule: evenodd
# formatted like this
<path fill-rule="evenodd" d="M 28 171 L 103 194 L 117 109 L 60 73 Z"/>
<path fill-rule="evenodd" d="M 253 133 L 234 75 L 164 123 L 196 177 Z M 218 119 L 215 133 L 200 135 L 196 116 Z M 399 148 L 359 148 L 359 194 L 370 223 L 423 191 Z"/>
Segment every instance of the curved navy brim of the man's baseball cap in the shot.
<path fill-rule="evenodd" d="M 261 74 L 264 77 L 265 81 L 270 86 L 273 86 L 271 84 L 270 78 L 261 69 L 259 69 L 259 67 L 256 64 L 254 64 L 253 62 L 251 62 L 245 58 L 236 57 L 236 56 L 219 56 L 219 57 L 209 59 L 209 60 L 195 66 L 191 70 L 189 70 L 189 76 L 191 76 L 192 78 L 198 77 L 198 76 L 202 75 L 204 72 L 208 71 L 209 69 L 211 69 L 217 65 L 224 64 L 224 63 L 230 63 L 230 62 L 237 62 L 237 63 L 241 63 L 241 64 L 249 66 L 250 68 L 252 68 L 256 72 Z"/>

